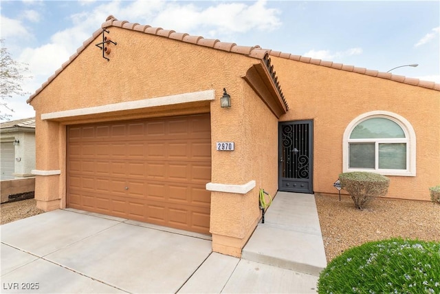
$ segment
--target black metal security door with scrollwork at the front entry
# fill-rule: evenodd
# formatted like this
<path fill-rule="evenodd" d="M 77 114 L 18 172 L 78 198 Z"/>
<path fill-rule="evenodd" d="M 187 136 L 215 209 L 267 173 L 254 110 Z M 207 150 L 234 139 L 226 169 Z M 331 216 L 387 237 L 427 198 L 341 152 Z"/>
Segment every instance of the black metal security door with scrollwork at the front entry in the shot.
<path fill-rule="evenodd" d="M 314 193 L 313 120 L 279 123 L 278 189 L 287 192 Z"/>

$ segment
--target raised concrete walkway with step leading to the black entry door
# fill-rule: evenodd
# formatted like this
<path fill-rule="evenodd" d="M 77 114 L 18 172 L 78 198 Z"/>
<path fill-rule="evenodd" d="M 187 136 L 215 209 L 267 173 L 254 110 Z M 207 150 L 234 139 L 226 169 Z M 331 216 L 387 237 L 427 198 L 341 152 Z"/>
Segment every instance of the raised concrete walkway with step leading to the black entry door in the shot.
<path fill-rule="evenodd" d="M 241 258 L 318 276 L 327 259 L 314 195 L 278 192 Z"/>

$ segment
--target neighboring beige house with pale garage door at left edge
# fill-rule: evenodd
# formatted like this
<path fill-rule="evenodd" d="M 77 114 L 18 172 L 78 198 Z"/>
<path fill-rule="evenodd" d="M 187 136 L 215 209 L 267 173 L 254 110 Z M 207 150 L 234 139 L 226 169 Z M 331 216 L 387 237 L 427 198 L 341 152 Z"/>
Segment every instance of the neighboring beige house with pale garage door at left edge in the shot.
<path fill-rule="evenodd" d="M 34 176 L 35 118 L 0 123 L 0 180 Z"/>

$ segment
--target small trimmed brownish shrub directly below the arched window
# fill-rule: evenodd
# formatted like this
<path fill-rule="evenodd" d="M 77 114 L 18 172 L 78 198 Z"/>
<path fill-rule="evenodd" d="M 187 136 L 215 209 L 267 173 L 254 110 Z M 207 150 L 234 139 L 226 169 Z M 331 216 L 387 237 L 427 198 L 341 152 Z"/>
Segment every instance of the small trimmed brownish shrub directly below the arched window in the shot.
<path fill-rule="evenodd" d="M 364 204 L 373 197 L 385 196 L 390 179 L 380 174 L 366 171 L 353 171 L 339 175 L 342 189 L 349 192 L 355 207 L 363 209 Z"/>

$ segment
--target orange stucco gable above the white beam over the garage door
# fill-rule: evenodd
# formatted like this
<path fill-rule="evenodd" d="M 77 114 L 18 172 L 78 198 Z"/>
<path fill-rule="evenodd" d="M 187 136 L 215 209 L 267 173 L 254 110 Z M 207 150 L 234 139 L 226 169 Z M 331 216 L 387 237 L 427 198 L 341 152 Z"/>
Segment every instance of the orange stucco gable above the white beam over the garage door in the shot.
<path fill-rule="evenodd" d="M 201 90 L 236 87 L 241 68 L 256 59 L 199 45 L 109 28 L 110 61 L 94 44 L 32 100 L 44 112 L 93 107 Z M 228 58 L 226 58 L 228 56 Z M 245 65 L 243 67 L 243 65 Z M 232 89 L 231 89 L 232 90 Z"/>

